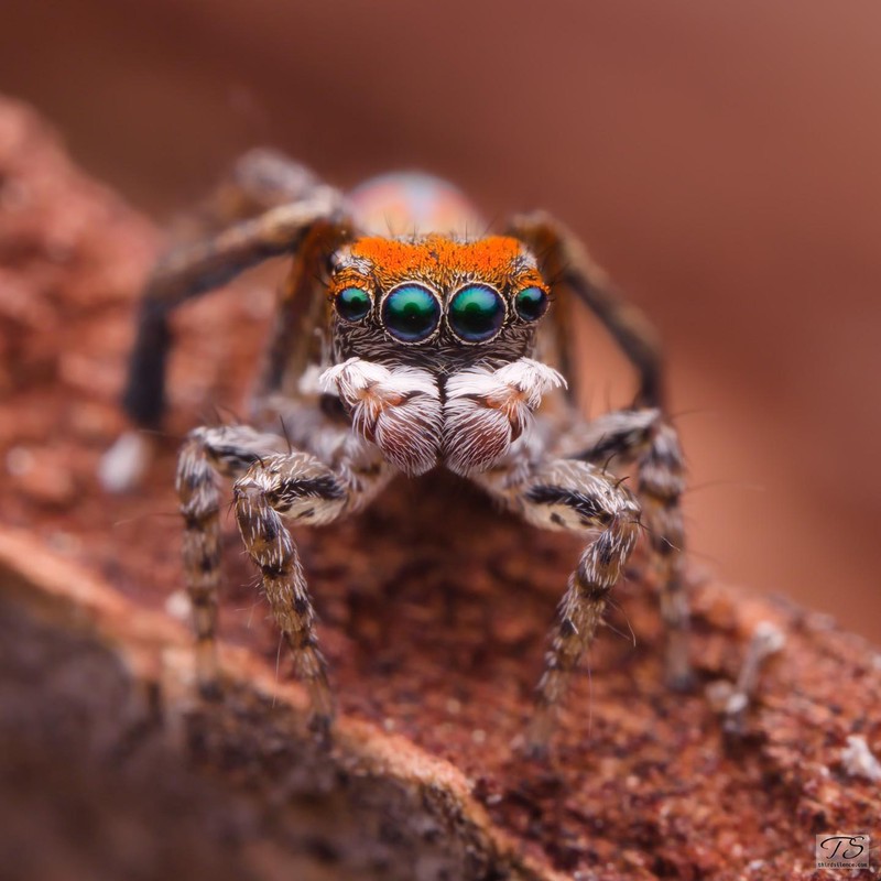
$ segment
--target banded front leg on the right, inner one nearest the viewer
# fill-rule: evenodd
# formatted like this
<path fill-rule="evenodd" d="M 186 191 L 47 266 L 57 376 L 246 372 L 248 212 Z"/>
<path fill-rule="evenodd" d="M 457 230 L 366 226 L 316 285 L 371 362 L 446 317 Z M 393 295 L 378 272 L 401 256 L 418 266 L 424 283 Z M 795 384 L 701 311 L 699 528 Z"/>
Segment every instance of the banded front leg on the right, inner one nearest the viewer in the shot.
<path fill-rule="evenodd" d="M 537 710 L 527 732 L 530 750 L 541 753 L 578 661 L 594 640 L 607 596 L 637 543 L 640 509 L 624 487 L 586 461 L 540 457 L 524 464 L 513 455 L 507 467 L 472 475 L 472 479 L 536 526 L 598 532 L 569 577 L 545 655 Z"/>

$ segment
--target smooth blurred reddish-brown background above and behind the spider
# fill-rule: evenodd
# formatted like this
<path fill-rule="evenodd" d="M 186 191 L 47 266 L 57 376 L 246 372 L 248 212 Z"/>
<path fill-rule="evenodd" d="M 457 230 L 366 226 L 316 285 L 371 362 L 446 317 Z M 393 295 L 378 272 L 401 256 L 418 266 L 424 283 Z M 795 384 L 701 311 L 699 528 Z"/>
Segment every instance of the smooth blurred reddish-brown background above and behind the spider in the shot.
<path fill-rule="evenodd" d="M 666 340 L 696 562 L 881 638 L 874 0 L 7 0 L 0 89 L 159 220 L 261 143 L 553 210 Z"/>

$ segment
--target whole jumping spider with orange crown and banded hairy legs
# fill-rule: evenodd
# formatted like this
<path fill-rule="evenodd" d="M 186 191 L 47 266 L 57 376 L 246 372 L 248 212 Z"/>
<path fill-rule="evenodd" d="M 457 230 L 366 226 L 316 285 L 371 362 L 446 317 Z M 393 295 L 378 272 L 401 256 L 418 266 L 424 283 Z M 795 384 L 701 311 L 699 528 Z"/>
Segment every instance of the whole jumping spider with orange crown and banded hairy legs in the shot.
<path fill-rule="evenodd" d="M 667 626 L 667 676 L 688 679 L 682 456 L 662 409 L 653 333 L 580 244 L 541 214 L 513 218 L 503 236 L 457 235 L 437 218 L 438 208 L 466 204 L 454 192 L 399 176 L 347 198 L 278 154 L 248 154 L 203 213 L 204 238 L 172 251 L 149 281 L 124 405 L 140 426 L 161 417 L 172 309 L 290 255 L 257 427 L 196 428 L 180 455 L 200 687 L 211 692 L 217 676 L 221 477 L 235 480 L 242 541 L 308 688 L 313 721 L 326 729 L 334 699 L 287 524 L 331 523 L 366 508 L 398 474 L 442 465 L 536 526 L 590 534 L 539 683 L 529 741 L 541 749 L 642 525 Z M 432 231 L 390 237 L 390 213 L 402 206 L 421 207 L 416 220 Z M 594 422 L 578 412 L 570 369 L 579 303 L 639 374 L 633 407 Z M 634 466 L 635 493 L 609 470 L 623 465 Z"/>

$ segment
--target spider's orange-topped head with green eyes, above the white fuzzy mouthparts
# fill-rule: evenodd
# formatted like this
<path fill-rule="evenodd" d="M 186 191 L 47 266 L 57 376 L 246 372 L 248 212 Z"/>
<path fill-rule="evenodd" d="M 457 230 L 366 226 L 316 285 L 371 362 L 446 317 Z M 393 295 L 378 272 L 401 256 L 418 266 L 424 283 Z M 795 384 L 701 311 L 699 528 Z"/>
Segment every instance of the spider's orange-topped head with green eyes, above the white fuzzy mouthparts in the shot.
<path fill-rule="evenodd" d="M 459 366 L 526 355 L 547 309 L 535 258 L 514 238 L 366 237 L 334 254 L 340 358 Z"/>

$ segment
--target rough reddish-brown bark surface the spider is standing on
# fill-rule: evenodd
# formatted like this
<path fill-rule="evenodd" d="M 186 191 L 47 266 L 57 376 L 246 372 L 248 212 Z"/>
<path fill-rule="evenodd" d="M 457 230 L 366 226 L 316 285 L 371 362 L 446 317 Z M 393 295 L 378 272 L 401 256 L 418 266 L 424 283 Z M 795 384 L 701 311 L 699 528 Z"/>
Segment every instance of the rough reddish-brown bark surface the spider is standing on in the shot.
<path fill-rule="evenodd" d="M 807 877 L 814 835 L 878 830 L 881 657 L 827 619 L 694 587 L 698 688 L 662 683 L 651 585 L 616 592 L 556 749 L 526 761 L 545 633 L 579 547 L 442 476 L 300 531 L 341 717 L 304 726 L 227 525 L 225 698 L 199 701 L 175 620 L 176 442 L 137 492 L 94 475 L 152 228 L 0 106 L 0 860 L 14 878 Z M 170 432 L 243 409 L 272 295 L 182 311 Z M 208 415 L 208 418 L 211 418 Z M 736 731 L 707 689 L 755 627 L 786 644 Z M 617 631 L 635 634 L 622 639 Z M 635 643 L 635 645 L 634 645 Z"/>

